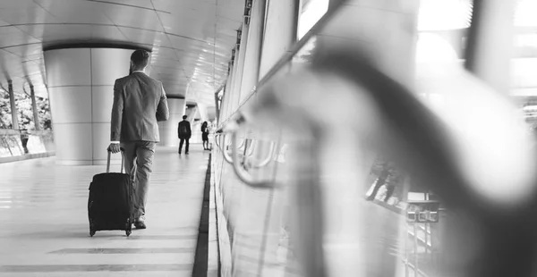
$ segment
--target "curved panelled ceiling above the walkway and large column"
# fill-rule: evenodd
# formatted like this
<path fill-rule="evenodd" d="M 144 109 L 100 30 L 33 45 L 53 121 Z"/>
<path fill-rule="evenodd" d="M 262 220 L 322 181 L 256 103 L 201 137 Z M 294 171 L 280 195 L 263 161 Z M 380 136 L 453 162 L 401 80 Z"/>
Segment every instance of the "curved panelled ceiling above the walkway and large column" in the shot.
<path fill-rule="evenodd" d="M 214 105 L 243 21 L 244 0 L 0 1 L 0 84 L 47 95 L 43 48 L 72 43 L 152 51 L 166 94 Z"/>

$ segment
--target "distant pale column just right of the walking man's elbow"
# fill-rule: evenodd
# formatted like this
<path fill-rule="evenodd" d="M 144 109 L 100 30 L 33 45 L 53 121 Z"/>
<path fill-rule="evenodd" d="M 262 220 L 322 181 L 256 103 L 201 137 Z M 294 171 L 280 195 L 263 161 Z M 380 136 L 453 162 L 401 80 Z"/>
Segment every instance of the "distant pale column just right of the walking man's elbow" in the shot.
<path fill-rule="evenodd" d="M 166 122 L 158 122 L 160 130 L 160 145 L 165 147 L 176 147 L 179 145 L 177 139 L 177 124 L 183 120 L 186 100 L 167 98 L 170 118 Z"/>

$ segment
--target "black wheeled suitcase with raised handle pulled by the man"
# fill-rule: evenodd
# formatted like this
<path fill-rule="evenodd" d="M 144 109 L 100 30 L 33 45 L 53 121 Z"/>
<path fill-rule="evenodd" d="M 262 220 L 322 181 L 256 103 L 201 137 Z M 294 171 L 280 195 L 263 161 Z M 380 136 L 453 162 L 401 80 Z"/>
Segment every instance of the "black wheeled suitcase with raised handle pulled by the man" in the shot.
<path fill-rule="evenodd" d="M 122 148 L 122 152 L 124 149 Z M 127 237 L 132 231 L 132 181 L 124 173 L 124 156 L 121 172 L 110 173 L 110 149 L 108 149 L 107 172 L 93 176 L 88 198 L 90 236 L 96 231 L 124 230 Z"/>

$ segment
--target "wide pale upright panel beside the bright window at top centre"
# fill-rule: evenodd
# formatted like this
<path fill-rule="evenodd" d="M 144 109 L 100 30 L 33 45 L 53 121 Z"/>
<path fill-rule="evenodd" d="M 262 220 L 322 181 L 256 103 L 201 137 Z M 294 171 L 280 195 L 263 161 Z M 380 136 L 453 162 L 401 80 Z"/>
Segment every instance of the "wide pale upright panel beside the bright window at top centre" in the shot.
<path fill-rule="evenodd" d="M 268 5 L 259 80 L 285 55 L 296 41 L 299 2 L 271 1 Z"/>

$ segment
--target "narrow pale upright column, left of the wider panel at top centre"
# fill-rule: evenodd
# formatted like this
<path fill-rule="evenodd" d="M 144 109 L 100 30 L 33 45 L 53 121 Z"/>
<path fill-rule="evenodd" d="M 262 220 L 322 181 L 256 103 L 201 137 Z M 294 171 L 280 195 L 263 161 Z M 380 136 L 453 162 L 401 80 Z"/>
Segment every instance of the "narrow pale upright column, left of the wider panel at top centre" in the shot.
<path fill-rule="evenodd" d="M 248 44 L 246 45 L 241 95 L 239 103 L 248 97 L 251 89 L 257 84 L 260 75 L 261 46 L 263 42 L 263 26 L 265 23 L 266 0 L 254 0 L 251 7 L 251 20 L 248 26 Z"/>

